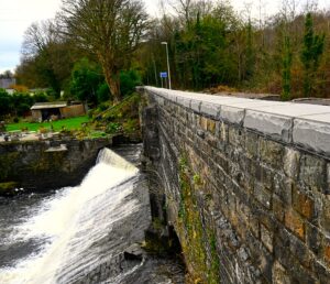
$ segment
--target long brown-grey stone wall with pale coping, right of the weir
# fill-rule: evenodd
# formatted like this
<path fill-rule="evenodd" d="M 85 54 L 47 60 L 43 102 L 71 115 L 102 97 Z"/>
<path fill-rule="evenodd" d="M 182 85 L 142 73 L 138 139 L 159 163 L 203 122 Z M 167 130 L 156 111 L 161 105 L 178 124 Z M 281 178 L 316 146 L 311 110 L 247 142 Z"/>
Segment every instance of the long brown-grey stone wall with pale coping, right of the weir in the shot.
<path fill-rule="evenodd" d="M 193 280 L 329 283 L 330 108 L 140 91 L 153 217 Z"/>

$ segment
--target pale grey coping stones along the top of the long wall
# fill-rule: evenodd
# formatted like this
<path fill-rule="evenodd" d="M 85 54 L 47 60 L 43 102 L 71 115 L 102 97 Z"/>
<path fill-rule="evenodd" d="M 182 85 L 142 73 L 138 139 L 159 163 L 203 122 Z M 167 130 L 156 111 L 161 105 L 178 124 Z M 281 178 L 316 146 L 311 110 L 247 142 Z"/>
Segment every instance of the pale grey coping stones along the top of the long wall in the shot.
<path fill-rule="evenodd" d="M 206 117 L 330 156 L 330 106 L 212 96 L 155 87 L 145 90 Z"/>

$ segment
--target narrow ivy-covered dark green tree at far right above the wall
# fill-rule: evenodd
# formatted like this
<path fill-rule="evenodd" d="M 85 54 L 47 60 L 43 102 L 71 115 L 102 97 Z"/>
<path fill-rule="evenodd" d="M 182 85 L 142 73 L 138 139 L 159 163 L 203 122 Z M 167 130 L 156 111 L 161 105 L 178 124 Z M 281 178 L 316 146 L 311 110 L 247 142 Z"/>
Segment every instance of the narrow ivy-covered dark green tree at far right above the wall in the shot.
<path fill-rule="evenodd" d="M 306 14 L 304 46 L 301 51 L 301 63 L 304 65 L 304 96 L 309 97 L 312 91 L 316 72 L 320 65 L 320 58 L 324 48 L 326 35 L 314 33 L 312 15 Z"/>

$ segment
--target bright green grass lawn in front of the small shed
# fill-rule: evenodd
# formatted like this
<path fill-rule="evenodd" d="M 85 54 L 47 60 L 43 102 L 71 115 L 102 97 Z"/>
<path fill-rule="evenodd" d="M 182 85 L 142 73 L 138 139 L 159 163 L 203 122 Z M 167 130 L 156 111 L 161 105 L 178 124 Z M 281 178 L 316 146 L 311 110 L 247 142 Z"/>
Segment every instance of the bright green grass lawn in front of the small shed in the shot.
<path fill-rule="evenodd" d="M 24 128 L 28 128 L 29 131 L 37 131 L 40 128 L 46 128 L 51 129 L 51 124 L 53 124 L 54 131 L 61 131 L 62 127 L 65 127 L 67 130 L 72 129 L 79 129 L 81 127 L 81 123 L 88 122 L 89 118 L 87 116 L 85 117 L 78 117 L 78 118 L 69 118 L 69 119 L 62 119 L 57 121 L 52 122 L 19 122 L 19 123 L 11 123 L 6 124 L 7 131 L 14 131 L 14 130 L 22 130 Z"/>

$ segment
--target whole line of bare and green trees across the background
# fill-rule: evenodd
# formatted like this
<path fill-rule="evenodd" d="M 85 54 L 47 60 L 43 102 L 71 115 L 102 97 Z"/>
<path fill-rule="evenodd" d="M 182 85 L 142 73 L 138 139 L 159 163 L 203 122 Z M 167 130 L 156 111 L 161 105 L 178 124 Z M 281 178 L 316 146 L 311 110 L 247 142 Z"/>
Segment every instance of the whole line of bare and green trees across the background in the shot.
<path fill-rule="evenodd" d="M 95 103 L 118 101 L 141 81 L 162 85 L 167 66 L 161 43 L 167 42 L 173 88 L 273 92 L 285 100 L 330 97 L 330 11 L 298 10 L 296 0 L 287 0 L 272 18 L 253 19 L 251 9 L 239 14 L 229 1 L 177 0 L 170 14 L 164 9 L 151 19 L 140 1 L 121 0 L 132 6 L 131 14 L 116 25 L 98 7 L 106 2 L 76 2 L 73 15 L 63 9 L 26 31 L 19 84 Z"/>

